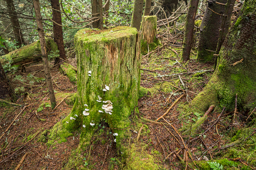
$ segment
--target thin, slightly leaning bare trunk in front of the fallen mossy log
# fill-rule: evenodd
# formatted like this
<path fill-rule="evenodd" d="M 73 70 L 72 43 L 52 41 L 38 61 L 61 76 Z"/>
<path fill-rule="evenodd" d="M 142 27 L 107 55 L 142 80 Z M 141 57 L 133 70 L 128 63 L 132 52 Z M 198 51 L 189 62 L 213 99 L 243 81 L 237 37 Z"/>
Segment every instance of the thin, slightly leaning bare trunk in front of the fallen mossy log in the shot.
<path fill-rule="evenodd" d="M 42 17 L 41 17 L 41 12 L 40 12 L 39 0 L 33 0 L 33 6 L 35 8 L 37 30 L 38 30 L 39 39 L 40 39 L 42 59 L 43 59 L 43 62 L 44 62 L 45 79 L 46 79 L 47 88 L 48 88 L 49 95 L 50 95 L 51 108 L 54 108 L 55 105 L 56 105 L 56 99 L 55 99 L 55 95 L 54 95 L 54 90 L 53 90 L 53 86 L 52 86 L 52 79 L 51 79 L 51 72 L 50 72 L 49 63 L 48 63 L 48 55 L 47 55 L 47 51 L 46 51 L 46 43 L 45 43 L 45 38 L 44 38 L 44 28 L 43 28 L 43 24 L 42 24 Z"/>

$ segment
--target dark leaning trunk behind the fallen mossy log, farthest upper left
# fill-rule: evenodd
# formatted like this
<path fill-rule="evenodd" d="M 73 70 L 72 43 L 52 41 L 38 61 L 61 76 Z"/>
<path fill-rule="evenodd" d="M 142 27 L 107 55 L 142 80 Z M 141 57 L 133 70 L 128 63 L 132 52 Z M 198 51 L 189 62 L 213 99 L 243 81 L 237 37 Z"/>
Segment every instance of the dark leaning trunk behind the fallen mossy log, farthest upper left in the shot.
<path fill-rule="evenodd" d="M 10 18 L 11 18 L 10 21 L 13 27 L 15 40 L 18 42 L 18 46 L 21 46 L 22 44 L 24 44 L 24 38 L 21 31 L 20 23 L 18 20 L 18 15 L 15 11 L 14 2 L 13 0 L 6 0 L 6 4 L 10 14 Z"/>

